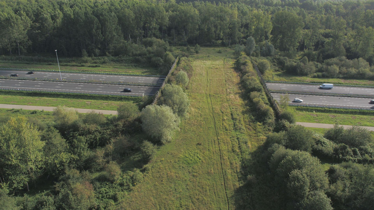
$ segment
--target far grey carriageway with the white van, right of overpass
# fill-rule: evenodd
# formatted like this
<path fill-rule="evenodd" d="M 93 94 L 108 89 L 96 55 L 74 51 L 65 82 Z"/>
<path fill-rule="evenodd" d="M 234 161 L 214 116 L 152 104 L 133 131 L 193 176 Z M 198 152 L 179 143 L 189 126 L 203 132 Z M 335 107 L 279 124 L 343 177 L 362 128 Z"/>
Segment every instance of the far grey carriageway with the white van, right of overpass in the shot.
<path fill-rule="evenodd" d="M 319 85 L 285 83 L 266 83 L 266 86 L 269 90 L 373 95 L 374 98 L 374 88 L 366 87 L 334 86 L 332 89 L 320 89 Z"/>

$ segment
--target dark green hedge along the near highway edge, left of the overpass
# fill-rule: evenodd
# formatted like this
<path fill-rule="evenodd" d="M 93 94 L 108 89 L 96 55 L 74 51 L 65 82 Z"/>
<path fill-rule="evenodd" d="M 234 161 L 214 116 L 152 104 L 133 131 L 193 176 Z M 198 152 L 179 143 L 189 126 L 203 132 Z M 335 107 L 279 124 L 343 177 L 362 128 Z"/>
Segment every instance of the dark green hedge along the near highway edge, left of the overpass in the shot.
<path fill-rule="evenodd" d="M 48 97 L 48 98 L 71 98 L 71 99 L 87 99 L 87 100 L 102 100 L 102 101 L 132 101 L 134 103 L 140 103 L 142 101 L 142 97 L 134 97 L 134 96 L 99 95 L 99 94 L 85 94 L 85 93 L 58 93 L 58 92 L 23 91 L 23 90 L 0 90 L 0 95 L 33 96 L 33 97 Z"/>

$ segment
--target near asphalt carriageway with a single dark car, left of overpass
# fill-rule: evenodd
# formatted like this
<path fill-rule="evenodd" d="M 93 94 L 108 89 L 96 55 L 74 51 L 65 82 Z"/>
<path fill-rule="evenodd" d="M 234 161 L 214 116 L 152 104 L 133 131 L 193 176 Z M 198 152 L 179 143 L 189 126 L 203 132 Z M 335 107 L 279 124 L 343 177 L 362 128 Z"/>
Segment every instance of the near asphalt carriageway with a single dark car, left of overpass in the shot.
<path fill-rule="evenodd" d="M 123 92 L 123 88 L 130 88 L 132 92 Z M 160 87 L 0 79 L 0 89 L 141 96 L 143 93 L 154 95 Z"/>

